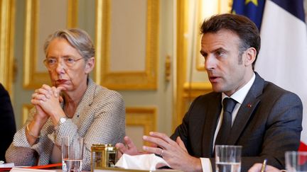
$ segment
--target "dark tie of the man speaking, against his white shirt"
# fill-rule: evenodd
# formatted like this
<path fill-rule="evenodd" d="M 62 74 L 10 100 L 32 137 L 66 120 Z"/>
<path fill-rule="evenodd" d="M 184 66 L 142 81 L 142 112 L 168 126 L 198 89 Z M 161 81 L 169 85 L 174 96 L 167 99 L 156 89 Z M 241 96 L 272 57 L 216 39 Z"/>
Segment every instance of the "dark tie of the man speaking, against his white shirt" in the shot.
<path fill-rule="evenodd" d="M 217 134 L 215 144 L 226 144 L 227 137 L 230 135 L 230 130 L 232 128 L 232 110 L 234 110 L 237 101 L 232 98 L 224 98 L 223 104 L 223 117 L 222 125 Z"/>

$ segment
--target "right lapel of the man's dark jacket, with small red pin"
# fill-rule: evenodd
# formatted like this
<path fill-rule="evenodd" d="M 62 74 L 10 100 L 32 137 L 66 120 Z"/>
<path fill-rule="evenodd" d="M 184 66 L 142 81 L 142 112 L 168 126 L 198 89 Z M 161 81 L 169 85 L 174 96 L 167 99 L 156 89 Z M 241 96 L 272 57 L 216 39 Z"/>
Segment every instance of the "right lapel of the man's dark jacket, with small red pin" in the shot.
<path fill-rule="evenodd" d="M 264 79 L 262 79 L 257 72 L 255 72 L 255 74 L 256 78 L 254 84 L 252 84 L 252 87 L 249 89 L 247 96 L 244 98 L 244 101 L 239 108 L 235 122 L 232 125 L 232 130 L 230 132 L 230 137 L 227 144 L 236 144 L 240 134 L 246 125 L 248 125 L 249 118 L 252 116 L 254 110 L 257 109 L 257 105 L 260 102 L 258 97 L 262 94 Z"/>

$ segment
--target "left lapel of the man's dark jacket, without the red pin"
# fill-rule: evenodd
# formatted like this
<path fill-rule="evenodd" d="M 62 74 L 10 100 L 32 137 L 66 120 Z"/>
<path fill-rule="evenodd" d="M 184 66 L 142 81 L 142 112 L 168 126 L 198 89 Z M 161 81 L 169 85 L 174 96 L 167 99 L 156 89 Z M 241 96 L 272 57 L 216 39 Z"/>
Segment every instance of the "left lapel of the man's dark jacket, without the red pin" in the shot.
<path fill-rule="evenodd" d="M 203 143 L 202 143 L 202 155 L 204 157 L 212 157 L 212 144 L 215 134 L 215 129 L 217 127 L 217 119 L 220 116 L 222 110 L 221 105 L 222 94 L 217 94 L 215 100 L 208 103 L 208 108 L 205 112 L 205 125 L 203 127 Z"/>

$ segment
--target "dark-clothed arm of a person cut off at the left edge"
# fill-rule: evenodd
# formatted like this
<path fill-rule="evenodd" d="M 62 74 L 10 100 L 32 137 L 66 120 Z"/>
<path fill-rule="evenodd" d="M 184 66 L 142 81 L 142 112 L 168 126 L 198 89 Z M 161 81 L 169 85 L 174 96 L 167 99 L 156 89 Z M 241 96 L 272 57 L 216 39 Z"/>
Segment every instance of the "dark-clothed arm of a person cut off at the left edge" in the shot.
<path fill-rule="evenodd" d="M 0 118 L 0 160 L 5 161 L 4 155 L 13 141 L 16 124 L 9 93 L 2 84 L 0 84 Z"/>

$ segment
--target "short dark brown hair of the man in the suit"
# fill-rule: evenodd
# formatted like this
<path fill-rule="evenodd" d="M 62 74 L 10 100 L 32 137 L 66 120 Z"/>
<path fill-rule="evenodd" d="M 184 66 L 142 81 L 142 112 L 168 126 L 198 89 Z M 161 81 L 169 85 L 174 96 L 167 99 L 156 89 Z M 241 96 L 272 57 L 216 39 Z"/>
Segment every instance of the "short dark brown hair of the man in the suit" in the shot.
<path fill-rule="evenodd" d="M 239 46 L 239 55 L 249 47 L 254 47 L 257 50 L 256 59 L 260 50 L 260 35 L 257 26 L 245 16 L 240 16 L 231 13 L 224 13 L 212 16 L 203 22 L 200 28 L 200 33 L 217 33 L 220 30 L 230 30 L 239 36 L 241 44 Z"/>

